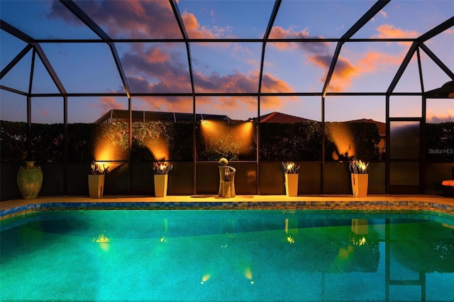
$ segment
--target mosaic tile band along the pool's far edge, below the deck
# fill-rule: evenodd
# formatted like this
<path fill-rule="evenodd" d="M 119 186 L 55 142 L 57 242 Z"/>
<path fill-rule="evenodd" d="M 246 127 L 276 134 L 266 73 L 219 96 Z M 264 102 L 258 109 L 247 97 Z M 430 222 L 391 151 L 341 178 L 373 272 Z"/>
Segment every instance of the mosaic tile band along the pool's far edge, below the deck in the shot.
<path fill-rule="evenodd" d="M 436 201 L 104 201 L 40 202 L 2 209 L 0 220 L 35 211 L 50 210 L 360 210 L 360 211 L 436 211 L 454 216 L 454 206 Z"/>

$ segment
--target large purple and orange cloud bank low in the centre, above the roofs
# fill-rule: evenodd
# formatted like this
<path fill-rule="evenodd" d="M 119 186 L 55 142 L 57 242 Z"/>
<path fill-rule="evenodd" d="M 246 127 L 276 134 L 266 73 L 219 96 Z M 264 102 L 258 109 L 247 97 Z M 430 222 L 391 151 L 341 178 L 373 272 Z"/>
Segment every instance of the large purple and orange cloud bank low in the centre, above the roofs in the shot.
<path fill-rule="evenodd" d="M 167 45 L 168 47 L 168 45 Z M 131 91 L 136 93 L 167 93 L 192 91 L 189 81 L 189 70 L 184 64 L 184 58 L 172 54 L 172 50 L 151 47 L 134 47 L 134 52 L 128 52 L 121 57 L 124 66 L 128 67 L 128 84 Z M 248 74 L 232 70 L 228 74 L 203 74 L 193 71 L 196 92 L 204 93 L 250 93 L 258 91 L 258 69 Z M 155 79 L 154 82 L 150 82 Z M 262 79 L 262 92 L 292 91 L 284 81 L 265 74 Z M 138 98 L 135 96 L 135 98 Z M 140 97 L 149 111 L 192 112 L 192 97 Z M 264 98 L 262 108 L 279 108 L 283 101 L 292 101 L 294 97 Z M 209 113 L 225 112 L 238 113 L 240 110 L 255 112 L 257 98 L 253 96 L 204 96 L 196 99 L 197 111 Z"/>

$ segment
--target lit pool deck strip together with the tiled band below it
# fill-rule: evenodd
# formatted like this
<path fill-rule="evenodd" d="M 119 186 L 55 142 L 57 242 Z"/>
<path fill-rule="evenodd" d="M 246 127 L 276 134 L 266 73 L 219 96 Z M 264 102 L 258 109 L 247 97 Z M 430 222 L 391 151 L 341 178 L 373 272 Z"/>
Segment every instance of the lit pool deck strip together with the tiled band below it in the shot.
<path fill-rule="evenodd" d="M 428 210 L 454 215 L 454 198 L 438 195 L 216 195 L 193 196 L 38 196 L 0 202 L 0 219 L 31 211 L 60 209 L 333 209 L 333 210 Z"/>

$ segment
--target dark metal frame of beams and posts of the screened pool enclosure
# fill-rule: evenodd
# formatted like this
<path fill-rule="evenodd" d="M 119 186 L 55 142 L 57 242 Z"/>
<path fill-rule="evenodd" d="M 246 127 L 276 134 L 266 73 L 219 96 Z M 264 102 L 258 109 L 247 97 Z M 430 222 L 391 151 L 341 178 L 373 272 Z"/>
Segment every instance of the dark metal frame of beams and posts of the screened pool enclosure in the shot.
<path fill-rule="evenodd" d="M 454 17 L 448 18 L 448 20 L 443 21 L 442 23 L 438 24 L 438 26 L 435 26 L 431 30 L 428 30 L 426 33 L 423 35 L 420 35 L 419 37 L 416 38 L 353 38 L 355 33 L 357 33 L 365 24 L 370 21 L 374 16 L 377 15 L 387 4 L 389 4 L 390 1 L 377 1 L 375 4 L 373 4 L 370 9 L 363 15 L 361 16 L 358 21 L 353 24 L 348 30 L 345 31 L 345 33 L 341 36 L 341 38 L 270 38 L 270 34 L 272 33 L 272 28 L 273 24 L 275 23 L 275 18 L 277 17 L 277 13 L 279 11 L 279 7 L 282 4 L 282 1 L 276 0 L 274 2 L 274 6 L 272 9 L 272 13 L 270 14 L 270 18 L 267 24 L 267 28 L 265 30 L 265 34 L 263 35 L 262 38 L 190 38 L 187 29 L 185 28 L 184 21 L 182 19 L 182 14 L 179 11 L 179 5 L 177 1 L 175 0 L 170 0 L 170 6 L 172 8 L 172 12 L 174 13 L 175 16 L 175 22 L 177 23 L 177 26 L 181 32 L 182 38 L 168 38 L 168 39 L 123 39 L 123 38 L 111 38 L 101 27 L 94 22 L 92 18 L 90 18 L 87 13 L 85 13 L 82 9 L 77 6 L 77 4 L 74 1 L 60 1 L 71 13 L 76 16 L 79 21 L 82 21 L 90 30 L 92 30 L 100 39 L 35 39 L 26 33 L 23 33 L 21 30 L 18 30 L 18 28 L 15 28 L 14 26 L 11 26 L 11 24 L 6 23 L 3 19 L 1 19 L 0 23 L 0 28 L 1 30 L 6 31 L 7 33 L 13 35 L 14 37 L 23 40 L 25 43 L 27 43 L 26 47 L 23 48 L 21 52 L 16 55 L 16 57 L 11 60 L 11 62 L 4 67 L 4 69 L 1 70 L 0 74 L 0 79 L 3 78 L 26 54 L 32 50 L 32 74 L 33 74 L 33 62 L 34 57 L 38 55 L 40 57 L 40 60 L 43 62 L 43 65 L 45 66 L 45 69 L 47 72 L 50 74 L 50 77 L 52 78 L 52 81 L 54 82 L 55 86 L 57 87 L 57 90 L 59 91 L 58 93 L 55 94 L 35 94 L 32 93 L 31 91 L 31 82 L 32 79 L 30 79 L 30 88 L 28 91 L 19 91 L 17 89 L 13 89 L 9 86 L 4 86 L 3 84 L 0 86 L 0 89 L 4 89 L 6 91 L 10 91 L 14 94 L 21 94 L 23 96 L 27 97 L 27 122 L 28 122 L 28 135 L 31 135 L 31 99 L 34 97 L 62 97 L 63 98 L 63 124 L 64 124 L 64 135 L 67 136 L 67 123 L 68 123 L 68 117 L 67 117 L 67 101 L 68 97 L 82 97 L 82 96 L 118 96 L 118 97 L 126 97 L 128 99 L 128 111 L 130 114 L 130 121 L 129 121 L 129 132 L 131 133 L 132 131 L 132 125 L 131 125 L 131 112 L 132 112 L 132 106 L 131 102 L 132 99 L 135 96 L 186 96 L 186 97 L 192 97 L 192 103 L 193 103 L 193 108 L 192 108 L 192 113 L 193 113 L 193 125 L 194 128 L 196 126 L 196 99 L 198 97 L 202 96 L 252 96 L 256 97 L 258 100 L 258 106 L 257 106 L 257 116 L 260 116 L 261 114 L 261 108 L 260 108 L 260 98 L 261 97 L 266 97 L 266 96 L 317 96 L 320 97 L 321 99 L 321 122 L 325 123 L 325 100 L 327 96 L 383 96 L 386 98 L 386 125 L 387 125 L 387 133 L 389 133 L 389 121 L 392 121 L 392 118 L 389 116 L 389 97 L 390 96 L 408 96 L 408 95 L 415 95 L 415 96 L 421 96 L 422 99 L 422 113 L 423 116 L 421 116 L 421 119 L 424 120 L 425 116 L 425 106 L 426 106 L 426 94 L 428 94 L 428 91 L 424 91 L 424 86 L 423 86 L 423 81 L 422 81 L 422 69 L 421 69 L 421 59 L 420 59 L 420 52 L 421 50 L 433 60 L 433 62 L 438 65 L 438 67 L 443 70 L 443 72 L 448 75 L 448 77 L 451 80 L 454 80 L 454 74 L 453 72 L 443 64 L 441 60 L 438 59 L 438 57 L 431 52 L 431 50 L 424 44 L 427 40 L 433 38 L 434 36 L 438 35 L 439 33 L 443 33 L 443 31 L 448 30 L 449 28 L 454 26 Z M 121 82 L 123 84 L 123 92 L 116 92 L 116 93 L 87 93 L 87 92 L 77 92 L 77 93 L 69 93 L 65 89 L 65 86 L 62 84 L 60 81 L 57 72 L 55 72 L 54 67 L 50 64 L 50 61 L 48 60 L 45 51 L 43 50 L 42 45 L 45 45 L 45 43 L 103 43 L 105 45 L 108 45 L 110 52 L 111 52 L 111 57 L 113 58 L 116 68 L 118 70 L 118 75 L 121 79 Z M 336 49 L 333 53 L 333 57 L 331 59 L 331 64 L 329 66 L 328 72 L 326 74 L 326 78 L 323 84 L 323 89 L 321 91 L 316 91 L 316 92 L 279 92 L 279 93 L 274 93 L 274 92 L 264 92 L 262 91 L 262 78 L 264 76 L 263 70 L 265 66 L 265 50 L 266 50 L 266 45 L 270 43 L 316 43 L 316 42 L 326 42 L 326 43 L 335 43 L 336 44 Z M 336 69 L 336 63 L 338 62 L 339 55 L 341 53 L 342 47 L 345 45 L 345 43 L 365 43 L 365 42 L 384 42 L 384 43 L 392 43 L 392 42 L 407 42 L 411 43 L 411 47 L 409 47 L 409 50 L 407 52 L 406 57 L 402 61 L 402 64 L 400 65 L 397 73 L 395 74 L 394 78 L 392 79 L 392 82 L 389 83 L 389 87 L 387 88 L 387 91 L 370 91 L 370 92 L 331 92 L 329 91 L 329 85 L 331 82 L 331 79 L 333 77 L 333 73 L 335 72 Z M 190 86 L 192 91 L 188 93 L 133 93 L 131 91 L 130 85 L 128 84 L 128 78 L 126 77 L 126 73 L 123 69 L 121 59 L 118 55 L 118 51 L 116 48 L 116 45 L 118 43 L 184 43 L 186 47 L 186 52 L 187 52 L 187 63 L 189 67 L 189 77 L 190 77 Z M 194 78 L 193 78 L 193 63 L 192 63 L 192 55 L 191 55 L 191 45 L 194 43 L 260 43 L 262 45 L 262 52 L 260 55 L 260 68 L 259 68 L 259 80 L 258 80 L 258 89 L 255 92 L 240 92 L 240 93 L 234 93 L 234 92 L 210 92 L 210 93 L 204 93 L 204 92 L 198 92 L 195 89 L 195 84 L 194 84 Z M 416 53 L 418 57 L 418 68 L 419 68 L 419 78 L 421 79 L 421 93 L 404 93 L 404 92 L 395 92 L 394 89 L 397 86 L 397 83 L 399 82 L 399 79 L 402 77 L 402 74 L 404 73 L 404 70 L 406 69 L 407 65 L 409 65 L 409 62 L 411 58 L 414 56 Z M 445 98 L 446 96 L 439 96 L 439 95 L 431 95 L 433 98 Z M 258 134 L 260 134 L 260 123 L 257 125 L 257 131 Z M 421 140 L 423 140 L 423 131 L 421 131 Z M 257 135 L 258 138 L 260 138 L 260 135 Z M 195 150 L 195 140 L 196 140 L 196 135 L 195 131 L 193 131 L 193 147 L 194 147 L 194 154 L 196 152 Z M 325 145 L 324 145 L 324 132 L 322 131 L 322 154 L 324 155 L 325 153 Z M 131 150 L 131 135 L 129 138 L 129 148 Z M 389 149 L 389 140 L 387 140 L 387 149 Z M 257 146 L 256 146 L 257 152 L 260 152 L 260 140 L 258 139 L 257 141 Z M 65 158 L 67 158 L 67 148 L 65 148 Z M 193 171 L 193 177 L 194 177 L 194 194 L 196 193 L 195 189 L 195 184 L 196 184 L 196 157 L 193 156 L 194 158 L 194 171 Z M 256 157 L 256 162 L 259 162 L 259 155 L 257 154 Z M 389 154 L 387 154 L 387 179 L 389 179 Z M 67 163 L 65 160 L 65 178 L 67 177 Z M 321 160 L 321 179 L 322 179 L 322 192 L 323 192 L 323 170 L 324 170 L 324 165 L 325 165 L 325 160 L 324 157 L 322 156 Z M 257 164 L 257 170 L 259 169 L 259 164 Z M 423 173 L 421 173 L 422 175 Z M 259 171 L 257 171 L 257 177 L 259 176 Z M 389 184 L 389 181 L 387 182 L 387 186 Z M 65 184 L 67 181 L 64 182 Z M 257 191 L 258 194 L 260 194 L 260 189 L 259 189 L 259 181 L 256 181 L 257 183 Z"/>

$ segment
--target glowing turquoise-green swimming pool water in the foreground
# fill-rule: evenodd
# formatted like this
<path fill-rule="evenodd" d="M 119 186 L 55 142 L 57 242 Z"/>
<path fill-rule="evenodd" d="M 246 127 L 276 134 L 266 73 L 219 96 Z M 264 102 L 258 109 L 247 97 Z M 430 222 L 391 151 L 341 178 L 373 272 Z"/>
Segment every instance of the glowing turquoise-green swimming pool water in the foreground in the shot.
<path fill-rule="evenodd" d="M 454 301 L 434 212 L 45 211 L 0 248 L 1 301 Z"/>

